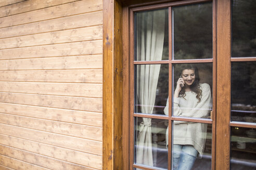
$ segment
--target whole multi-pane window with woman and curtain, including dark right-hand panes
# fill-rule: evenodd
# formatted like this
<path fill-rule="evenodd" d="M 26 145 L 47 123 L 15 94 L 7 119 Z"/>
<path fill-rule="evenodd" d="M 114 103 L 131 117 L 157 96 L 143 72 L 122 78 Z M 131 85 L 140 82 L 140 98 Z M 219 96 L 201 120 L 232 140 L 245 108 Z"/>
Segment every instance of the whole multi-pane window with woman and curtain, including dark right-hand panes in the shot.
<path fill-rule="evenodd" d="M 232 9 L 229 26 L 223 4 Z M 217 169 L 229 164 L 221 160 L 226 155 L 231 169 L 256 167 L 254 4 L 180 1 L 130 9 L 124 114 L 131 169 Z M 182 164 L 184 153 L 191 157 Z"/>

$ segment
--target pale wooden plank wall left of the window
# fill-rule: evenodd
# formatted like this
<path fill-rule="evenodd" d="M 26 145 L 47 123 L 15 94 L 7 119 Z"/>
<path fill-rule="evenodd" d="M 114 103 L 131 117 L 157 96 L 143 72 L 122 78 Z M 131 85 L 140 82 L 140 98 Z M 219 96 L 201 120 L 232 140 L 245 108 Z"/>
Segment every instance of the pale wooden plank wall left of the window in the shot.
<path fill-rule="evenodd" d="M 103 0 L 0 1 L 0 169 L 102 169 Z"/>

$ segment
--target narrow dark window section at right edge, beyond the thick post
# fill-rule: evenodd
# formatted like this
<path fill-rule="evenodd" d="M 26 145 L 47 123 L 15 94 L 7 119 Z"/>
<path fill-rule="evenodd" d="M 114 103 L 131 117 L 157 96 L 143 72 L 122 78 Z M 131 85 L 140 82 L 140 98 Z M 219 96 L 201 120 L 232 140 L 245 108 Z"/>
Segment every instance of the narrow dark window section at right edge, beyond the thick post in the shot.
<path fill-rule="evenodd" d="M 231 169 L 256 168 L 256 5 L 232 1 Z"/>

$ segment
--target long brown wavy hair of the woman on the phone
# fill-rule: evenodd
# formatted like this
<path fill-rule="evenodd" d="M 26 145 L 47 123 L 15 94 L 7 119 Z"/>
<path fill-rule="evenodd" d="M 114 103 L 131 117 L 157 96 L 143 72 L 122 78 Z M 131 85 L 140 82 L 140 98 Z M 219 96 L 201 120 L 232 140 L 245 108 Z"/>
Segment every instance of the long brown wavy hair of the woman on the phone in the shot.
<path fill-rule="evenodd" d="M 193 64 L 182 64 L 182 69 L 180 70 L 179 77 L 182 76 L 182 72 L 183 72 L 184 69 L 193 69 L 193 70 L 195 70 L 196 78 L 195 78 L 195 81 L 193 82 L 193 84 L 191 84 L 190 90 L 197 94 L 196 98 L 198 99 L 198 102 L 200 102 L 201 101 L 202 90 L 200 89 L 200 84 L 199 84 L 200 78 L 199 78 L 199 74 L 198 74 L 198 68 Z M 185 86 L 182 88 L 182 90 L 180 91 L 178 96 L 183 97 L 183 98 L 186 96 Z"/>

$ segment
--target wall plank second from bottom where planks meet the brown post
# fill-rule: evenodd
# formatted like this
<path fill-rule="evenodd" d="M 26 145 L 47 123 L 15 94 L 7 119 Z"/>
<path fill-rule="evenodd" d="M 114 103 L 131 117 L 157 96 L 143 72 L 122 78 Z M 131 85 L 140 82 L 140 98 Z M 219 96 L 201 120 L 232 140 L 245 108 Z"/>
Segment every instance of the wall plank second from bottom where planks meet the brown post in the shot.
<path fill-rule="evenodd" d="M 78 137 L 42 132 L 0 123 L 0 133 L 40 143 L 102 155 L 102 142 Z M 0 149 L 1 150 L 1 149 Z"/>

